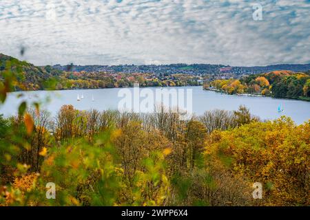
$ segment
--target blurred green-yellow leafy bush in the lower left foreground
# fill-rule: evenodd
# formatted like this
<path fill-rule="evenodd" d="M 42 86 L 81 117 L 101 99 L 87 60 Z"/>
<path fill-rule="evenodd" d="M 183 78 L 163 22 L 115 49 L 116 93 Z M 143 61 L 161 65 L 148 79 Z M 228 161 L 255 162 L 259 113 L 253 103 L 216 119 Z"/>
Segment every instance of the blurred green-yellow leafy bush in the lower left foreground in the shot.
<path fill-rule="evenodd" d="M 58 192 L 50 205 L 112 206 L 123 187 L 123 170 L 114 163 L 110 134 L 80 139 L 49 149 L 41 167 L 41 182 L 54 182 Z"/>

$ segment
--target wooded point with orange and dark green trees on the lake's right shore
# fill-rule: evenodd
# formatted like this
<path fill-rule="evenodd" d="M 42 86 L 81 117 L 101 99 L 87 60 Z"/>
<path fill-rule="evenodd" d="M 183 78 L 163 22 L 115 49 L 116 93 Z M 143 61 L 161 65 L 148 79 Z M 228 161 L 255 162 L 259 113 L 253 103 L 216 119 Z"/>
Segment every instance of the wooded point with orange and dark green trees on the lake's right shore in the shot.
<path fill-rule="evenodd" d="M 252 74 L 240 79 L 214 80 L 204 89 L 215 88 L 227 94 L 261 94 L 273 98 L 310 100 L 310 75 L 289 71 Z"/>

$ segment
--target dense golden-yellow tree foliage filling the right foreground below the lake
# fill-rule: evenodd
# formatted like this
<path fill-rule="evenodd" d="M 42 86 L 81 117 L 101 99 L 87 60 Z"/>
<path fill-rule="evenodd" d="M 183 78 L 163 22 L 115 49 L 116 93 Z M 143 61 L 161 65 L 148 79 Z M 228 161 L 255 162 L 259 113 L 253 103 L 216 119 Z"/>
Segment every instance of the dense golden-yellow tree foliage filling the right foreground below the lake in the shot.
<path fill-rule="evenodd" d="M 206 155 L 228 159 L 232 170 L 262 182 L 265 205 L 309 206 L 310 120 L 296 126 L 289 118 L 252 122 L 216 131 Z"/>

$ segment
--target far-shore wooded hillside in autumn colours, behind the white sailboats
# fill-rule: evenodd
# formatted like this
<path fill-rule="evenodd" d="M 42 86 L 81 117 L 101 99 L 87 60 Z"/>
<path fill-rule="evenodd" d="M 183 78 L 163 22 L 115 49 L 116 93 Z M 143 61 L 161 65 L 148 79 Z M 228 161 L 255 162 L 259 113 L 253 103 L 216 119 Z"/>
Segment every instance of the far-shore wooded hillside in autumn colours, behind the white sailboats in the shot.
<path fill-rule="evenodd" d="M 139 83 L 141 87 L 182 87 L 202 85 L 201 78 L 192 74 L 160 74 L 149 73 L 109 73 L 109 72 L 74 72 L 72 67 L 61 71 L 47 65 L 37 67 L 11 56 L 0 54 L 0 81 L 6 69 L 19 72 L 13 91 L 36 91 L 46 89 L 103 89 L 133 87 Z"/>

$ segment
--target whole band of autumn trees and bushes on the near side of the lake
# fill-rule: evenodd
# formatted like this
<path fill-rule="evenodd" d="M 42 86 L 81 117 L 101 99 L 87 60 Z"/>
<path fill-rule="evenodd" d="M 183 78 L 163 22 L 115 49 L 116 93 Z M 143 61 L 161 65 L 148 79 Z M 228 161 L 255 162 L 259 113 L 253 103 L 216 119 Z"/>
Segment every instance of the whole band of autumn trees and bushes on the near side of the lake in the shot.
<path fill-rule="evenodd" d="M 22 72 L 3 70 L 1 103 Z M 0 116 L 0 206 L 309 206 L 310 120 L 262 121 L 244 106 L 189 120 L 164 106 L 18 110 Z"/>

